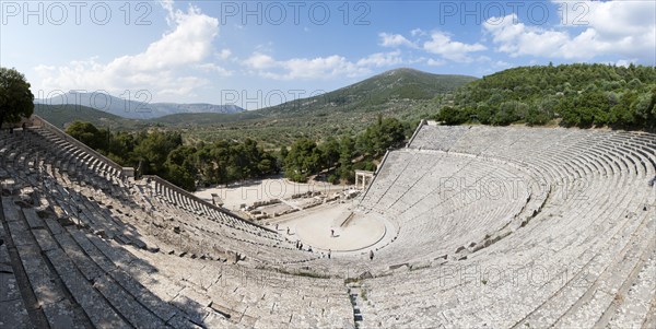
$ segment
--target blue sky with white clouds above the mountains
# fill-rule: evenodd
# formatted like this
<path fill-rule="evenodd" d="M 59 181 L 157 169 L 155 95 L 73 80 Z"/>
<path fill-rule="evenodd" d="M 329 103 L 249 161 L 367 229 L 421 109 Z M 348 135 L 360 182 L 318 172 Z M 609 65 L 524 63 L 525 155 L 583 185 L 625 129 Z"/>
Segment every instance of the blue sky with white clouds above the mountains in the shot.
<path fill-rule="evenodd" d="M 656 1 L 0 1 L 0 66 L 68 91 L 247 109 L 396 68 L 656 66 Z M 86 104 L 82 104 L 86 105 Z"/>

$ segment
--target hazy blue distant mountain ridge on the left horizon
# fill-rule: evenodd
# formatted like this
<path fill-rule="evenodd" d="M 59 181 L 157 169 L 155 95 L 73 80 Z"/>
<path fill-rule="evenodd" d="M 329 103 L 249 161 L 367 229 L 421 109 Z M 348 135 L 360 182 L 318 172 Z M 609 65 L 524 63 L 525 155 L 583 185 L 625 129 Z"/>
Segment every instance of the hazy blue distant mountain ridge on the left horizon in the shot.
<path fill-rule="evenodd" d="M 128 119 L 153 119 L 173 114 L 190 113 L 214 113 L 233 114 L 244 111 L 236 105 L 213 104 L 176 104 L 176 103 L 150 103 L 149 93 L 134 93 L 126 97 L 115 97 L 106 93 L 79 93 L 68 92 L 57 96 L 35 99 L 35 104 L 62 105 L 70 104 L 95 108 Z"/>

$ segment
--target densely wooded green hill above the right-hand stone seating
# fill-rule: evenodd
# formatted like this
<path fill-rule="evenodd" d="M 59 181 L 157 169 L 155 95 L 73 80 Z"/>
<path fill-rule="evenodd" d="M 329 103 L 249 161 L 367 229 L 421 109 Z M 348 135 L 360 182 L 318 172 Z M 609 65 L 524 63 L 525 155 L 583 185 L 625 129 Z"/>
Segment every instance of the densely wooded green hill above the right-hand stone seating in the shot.
<path fill-rule="evenodd" d="M 563 64 L 505 70 L 440 97 L 437 120 L 448 125 L 609 126 L 653 129 L 656 68 Z"/>

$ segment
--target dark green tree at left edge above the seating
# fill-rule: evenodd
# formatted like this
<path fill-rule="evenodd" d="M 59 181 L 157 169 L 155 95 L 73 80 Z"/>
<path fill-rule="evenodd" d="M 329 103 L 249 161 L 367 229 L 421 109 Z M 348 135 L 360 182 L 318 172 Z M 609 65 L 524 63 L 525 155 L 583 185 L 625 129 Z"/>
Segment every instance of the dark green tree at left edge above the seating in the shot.
<path fill-rule="evenodd" d="M 0 67 L 0 127 L 19 122 L 34 111 L 34 95 L 23 73 Z"/>

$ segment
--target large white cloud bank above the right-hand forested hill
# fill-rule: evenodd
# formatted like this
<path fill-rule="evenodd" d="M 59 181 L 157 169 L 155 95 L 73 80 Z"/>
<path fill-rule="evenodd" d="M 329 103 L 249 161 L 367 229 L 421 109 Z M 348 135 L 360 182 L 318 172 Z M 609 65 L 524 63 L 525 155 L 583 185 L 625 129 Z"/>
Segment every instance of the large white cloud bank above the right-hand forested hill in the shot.
<path fill-rule="evenodd" d="M 544 28 L 516 22 L 515 14 L 491 17 L 483 30 L 492 35 L 496 50 L 517 56 L 589 60 L 601 56 L 637 58 L 655 64 L 656 2 L 579 1 L 561 12 L 562 26 Z M 516 24 L 514 24 L 514 22 Z"/>

